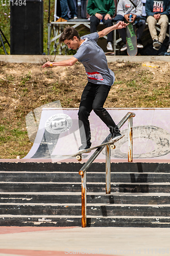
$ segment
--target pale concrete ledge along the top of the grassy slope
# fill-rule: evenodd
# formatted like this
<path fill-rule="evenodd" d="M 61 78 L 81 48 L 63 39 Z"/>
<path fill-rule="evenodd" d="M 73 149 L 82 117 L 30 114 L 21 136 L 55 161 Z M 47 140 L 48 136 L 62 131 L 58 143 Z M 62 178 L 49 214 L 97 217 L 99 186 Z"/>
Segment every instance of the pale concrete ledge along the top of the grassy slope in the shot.
<path fill-rule="evenodd" d="M 61 61 L 71 58 L 72 55 L 0 55 L 0 61 L 11 63 L 39 63 L 42 64 L 47 60 Z M 129 62 L 144 62 L 144 61 L 164 61 L 169 62 L 170 56 L 107 56 L 108 62 L 129 61 Z"/>

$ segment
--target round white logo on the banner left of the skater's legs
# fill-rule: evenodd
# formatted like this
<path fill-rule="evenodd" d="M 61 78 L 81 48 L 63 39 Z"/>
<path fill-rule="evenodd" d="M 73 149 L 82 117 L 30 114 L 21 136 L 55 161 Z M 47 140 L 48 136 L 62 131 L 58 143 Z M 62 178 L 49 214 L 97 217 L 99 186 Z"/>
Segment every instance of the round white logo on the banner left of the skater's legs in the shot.
<path fill-rule="evenodd" d="M 72 119 L 65 114 L 56 114 L 48 118 L 45 130 L 48 133 L 60 134 L 68 131 L 72 125 Z"/>

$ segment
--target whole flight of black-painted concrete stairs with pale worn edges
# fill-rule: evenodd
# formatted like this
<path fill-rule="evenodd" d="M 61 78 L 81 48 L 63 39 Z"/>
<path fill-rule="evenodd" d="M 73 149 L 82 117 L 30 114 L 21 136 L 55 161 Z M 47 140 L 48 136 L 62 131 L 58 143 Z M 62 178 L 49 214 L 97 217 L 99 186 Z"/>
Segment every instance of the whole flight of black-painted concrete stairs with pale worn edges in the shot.
<path fill-rule="evenodd" d="M 0 226 L 81 226 L 81 163 L 0 163 Z M 170 227 L 167 163 L 105 163 L 87 170 L 87 226 Z"/>

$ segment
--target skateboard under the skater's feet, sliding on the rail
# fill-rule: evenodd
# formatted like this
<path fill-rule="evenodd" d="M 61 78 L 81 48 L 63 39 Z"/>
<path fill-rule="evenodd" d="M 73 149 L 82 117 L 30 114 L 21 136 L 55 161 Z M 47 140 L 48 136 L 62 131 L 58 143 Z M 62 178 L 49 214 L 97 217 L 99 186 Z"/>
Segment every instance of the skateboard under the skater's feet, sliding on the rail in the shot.
<path fill-rule="evenodd" d="M 101 145 L 90 147 L 90 148 L 88 148 L 87 150 L 78 151 L 76 154 L 70 155 L 69 157 L 76 157 L 76 159 L 80 162 L 80 161 L 82 160 L 82 154 L 84 154 L 84 153 L 89 153 L 89 152 L 91 152 L 92 150 L 95 150 L 96 148 L 99 148 L 99 147 L 101 147 L 101 146 L 110 145 L 110 148 L 111 148 L 112 150 L 114 150 L 114 148 L 116 147 L 116 146 L 114 145 L 114 143 L 117 142 L 118 140 L 122 139 L 124 136 L 125 136 L 125 135 L 122 135 L 122 137 L 119 137 L 118 139 L 115 138 L 115 139 L 113 139 L 112 141 L 108 141 L 108 142 L 103 143 L 103 144 L 101 144 Z"/>

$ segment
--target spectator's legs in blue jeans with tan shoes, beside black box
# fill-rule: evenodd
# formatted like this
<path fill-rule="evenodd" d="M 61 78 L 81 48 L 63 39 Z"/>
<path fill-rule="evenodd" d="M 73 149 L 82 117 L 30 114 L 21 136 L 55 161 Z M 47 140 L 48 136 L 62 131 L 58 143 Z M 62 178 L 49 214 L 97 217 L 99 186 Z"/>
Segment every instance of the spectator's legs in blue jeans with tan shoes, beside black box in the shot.
<path fill-rule="evenodd" d="M 77 18 L 76 7 L 72 0 L 60 0 L 61 17 L 57 19 L 57 22 L 67 22 L 68 20 L 68 8 L 70 10 L 71 18 Z"/>

